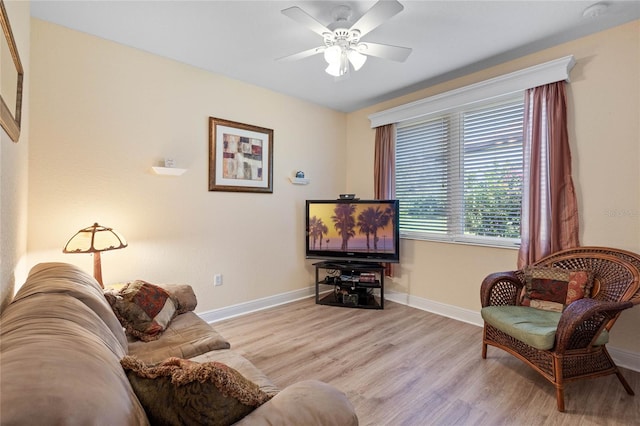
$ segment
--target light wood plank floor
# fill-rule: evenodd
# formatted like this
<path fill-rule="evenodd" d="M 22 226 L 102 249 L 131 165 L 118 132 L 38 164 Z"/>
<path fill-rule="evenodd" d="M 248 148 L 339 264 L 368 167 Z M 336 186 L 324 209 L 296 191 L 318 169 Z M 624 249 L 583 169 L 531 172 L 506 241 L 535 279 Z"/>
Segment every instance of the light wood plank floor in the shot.
<path fill-rule="evenodd" d="M 214 324 L 279 387 L 318 379 L 347 394 L 367 425 L 640 424 L 640 373 L 553 385 L 493 347 L 482 329 L 393 302 L 384 310 L 305 299 Z"/>

